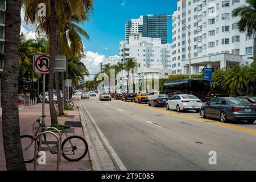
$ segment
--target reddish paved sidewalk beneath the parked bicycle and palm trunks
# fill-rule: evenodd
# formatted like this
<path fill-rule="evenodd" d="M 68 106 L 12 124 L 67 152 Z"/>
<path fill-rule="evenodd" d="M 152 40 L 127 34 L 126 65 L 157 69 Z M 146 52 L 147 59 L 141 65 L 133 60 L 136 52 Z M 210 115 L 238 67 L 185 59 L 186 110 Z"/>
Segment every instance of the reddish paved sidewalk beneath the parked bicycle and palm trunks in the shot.
<path fill-rule="evenodd" d="M 65 121 L 80 121 L 79 110 L 77 109 L 77 101 L 73 100 L 74 107 L 73 111 L 65 111 L 69 116 L 69 118 L 58 118 L 59 124 L 64 125 Z M 38 104 L 35 106 L 27 107 L 19 110 L 19 122 L 20 122 L 20 134 L 32 134 L 32 124 L 42 115 L 42 104 Z M 46 125 L 51 125 L 51 119 L 49 116 L 49 104 L 46 104 Z M 80 127 L 72 127 L 75 129 L 75 133 L 68 133 L 68 136 L 71 135 L 79 135 L 84 137 L 82 128 Z M 63 140 L 65 139 L 65 135 L 63 135 Z M 57 155 L 52 155 L 49 152 L 46 152 L 46 165 L 37 166 L 38 171 L 55 171 L 56 170 L 56 162 Z M 0 115 L 0 171 L 6 170 L 5 166 L 5 153 L 3 150 L 3 138 L 2 138 L 2 117 Z M 34 169 L 34 163 L 26 164 L 27 170 L 31 171 Z M 63 157 L 61 158 L 60 164 L 61 171 L 88 171 L 91 170 L 88 154 L 86 154 L 85 158 L 80 160 L 79 162 L 68 162 Z"/>

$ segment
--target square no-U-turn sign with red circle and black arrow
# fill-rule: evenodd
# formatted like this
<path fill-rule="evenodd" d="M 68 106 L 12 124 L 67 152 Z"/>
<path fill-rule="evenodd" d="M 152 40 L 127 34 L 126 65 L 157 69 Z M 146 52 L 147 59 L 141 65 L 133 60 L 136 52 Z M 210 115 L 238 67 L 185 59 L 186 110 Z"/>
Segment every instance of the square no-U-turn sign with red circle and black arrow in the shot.
<path fill-rule="evenodd" d="M 35 73 L 48 74 L 49 73 L 49 56 L 34 55 L 33 65 L 34 65 Z"/>

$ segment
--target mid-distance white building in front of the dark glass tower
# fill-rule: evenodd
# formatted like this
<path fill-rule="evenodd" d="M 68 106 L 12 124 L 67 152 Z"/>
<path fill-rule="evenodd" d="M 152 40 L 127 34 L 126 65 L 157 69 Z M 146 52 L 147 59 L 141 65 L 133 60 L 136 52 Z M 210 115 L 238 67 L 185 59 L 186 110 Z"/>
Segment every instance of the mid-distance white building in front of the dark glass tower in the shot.
<path fill-rule="evenodd" d="M 137 60 L 134 73 L 138 77 L 168 78 L 171 75 L 171 44 L 161 44 L 159 38 L 146 38 L 142 34 L 132 34 L 127 41 L 120 42 L 120 60 L 125 63 L 129 57 Z"/>

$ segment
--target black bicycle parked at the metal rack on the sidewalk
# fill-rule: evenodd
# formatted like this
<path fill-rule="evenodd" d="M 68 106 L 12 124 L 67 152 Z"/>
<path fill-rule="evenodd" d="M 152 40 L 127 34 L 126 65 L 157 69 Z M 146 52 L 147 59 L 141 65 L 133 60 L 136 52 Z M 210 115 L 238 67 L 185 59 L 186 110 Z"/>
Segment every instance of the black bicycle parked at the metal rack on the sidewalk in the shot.
<path fill-rule="evenodd" d="M 34 161 L 34 147 L 35 147 L 35 140 L 38 137 L 39 133 L 45 131 L 45 127 L 42 125 L 43 118 L 46 115 L 41 116 L 40 118 L 36 119 L 36 122 L 32 125 L 32 132 L 34 135 L 22 135 L 21 142 L 22 142 L 22 151 L 25 163 L 31 163 Z M 86 140 L 80 136 L 73 135 L 68 137 L 67 133 L 65 132 L 66 129 L 70 129 L 71 126 L 60 125 L 64 128 L 61 130 L 61 136 L 65 134 L 66 138 L 61 143 L 61 155 L 64 159 L 70 162 L 77 162 L 85 157 L 88 152 L 88 144 Z M 46 135 L 43 135 L 44 141 L 46 140 Z M 39 146 L 39 142 L 37 143 Z M 50 147 L 49 145 L 47 145 Z M 52 147 L 52 146 L 51 146 Z M 57 154 L 57 151 L 50 151 L 51 154 Z M 38 158 L 38 156 L 37 156 Z"/>

